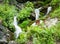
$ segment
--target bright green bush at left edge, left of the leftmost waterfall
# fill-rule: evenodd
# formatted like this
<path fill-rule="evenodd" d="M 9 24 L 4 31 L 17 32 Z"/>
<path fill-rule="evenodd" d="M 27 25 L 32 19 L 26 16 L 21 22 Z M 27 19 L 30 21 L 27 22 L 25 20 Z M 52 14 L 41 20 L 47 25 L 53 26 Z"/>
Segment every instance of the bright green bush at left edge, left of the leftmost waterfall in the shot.
<path fill-rule="evenodd" d="M 10 29 L 13 28 L 13 18 L 15 14 L 16 10 L 14 6 L 8 4 L 0 5 L 0 17 L 2 17 L 5 27 L 9 27 Z"/>

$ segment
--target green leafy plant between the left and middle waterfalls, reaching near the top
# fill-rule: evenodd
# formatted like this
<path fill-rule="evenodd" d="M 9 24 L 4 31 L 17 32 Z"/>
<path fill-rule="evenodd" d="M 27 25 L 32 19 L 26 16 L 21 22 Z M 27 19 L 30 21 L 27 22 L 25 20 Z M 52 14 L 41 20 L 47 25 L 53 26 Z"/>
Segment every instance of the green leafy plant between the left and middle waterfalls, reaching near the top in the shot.
<path fill-rule="evenodd" d="M 23 7 L 18 13 L 19 14 L 18 20 L 30 17 L 30 15 L 34 9 L 33 7 L 34 7 L 33 3 L 27 2 L 25 4 L 25 7 Z"/>

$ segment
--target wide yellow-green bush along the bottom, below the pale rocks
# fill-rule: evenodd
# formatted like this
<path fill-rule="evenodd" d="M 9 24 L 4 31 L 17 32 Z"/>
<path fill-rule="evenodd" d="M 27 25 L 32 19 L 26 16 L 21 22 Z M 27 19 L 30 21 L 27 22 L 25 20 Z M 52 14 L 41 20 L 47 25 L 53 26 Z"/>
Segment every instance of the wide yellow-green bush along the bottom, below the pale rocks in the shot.
<path fill-rule="evenodd" d="M 28 27 L 27 32 L 20 34 L 17 41 L 19 44 L 27 44 L 28 41 L 32 41 L 32 44 L 55 44 L 55 30 L 51 29 L 42 29 L 38 26 Z"/>

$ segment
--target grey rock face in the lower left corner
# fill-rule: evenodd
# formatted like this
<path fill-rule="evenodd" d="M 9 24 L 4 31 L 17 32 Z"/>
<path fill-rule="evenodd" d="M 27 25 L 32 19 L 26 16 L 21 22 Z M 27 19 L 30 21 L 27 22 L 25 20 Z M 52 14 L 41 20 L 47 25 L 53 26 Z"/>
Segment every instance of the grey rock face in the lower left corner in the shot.
<path fill-rule="evenodd" d="M 11 40 L 10 37 L 12 34 L 11 32 L 6 29 L 4 26 L 0 24 L 0 44 L 7 44 L 9 40 Z"/>

